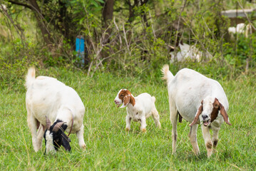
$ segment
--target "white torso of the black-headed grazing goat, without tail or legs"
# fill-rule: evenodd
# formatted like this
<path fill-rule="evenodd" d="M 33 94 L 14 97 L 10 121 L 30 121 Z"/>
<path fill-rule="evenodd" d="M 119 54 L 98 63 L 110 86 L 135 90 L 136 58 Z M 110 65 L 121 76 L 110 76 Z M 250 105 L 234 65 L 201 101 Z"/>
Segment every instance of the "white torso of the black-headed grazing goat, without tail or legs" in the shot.
<path fill-rule="evenodd" d="M 83 118 L 84 105 L 73 88 L 56 78 L 39 76 L 26 92 L 26 106 L 40 123 L 45 124 L 45 115 L 51 122 L 61 114 L 63 107 L 70 108 L 74 118 Z"/>

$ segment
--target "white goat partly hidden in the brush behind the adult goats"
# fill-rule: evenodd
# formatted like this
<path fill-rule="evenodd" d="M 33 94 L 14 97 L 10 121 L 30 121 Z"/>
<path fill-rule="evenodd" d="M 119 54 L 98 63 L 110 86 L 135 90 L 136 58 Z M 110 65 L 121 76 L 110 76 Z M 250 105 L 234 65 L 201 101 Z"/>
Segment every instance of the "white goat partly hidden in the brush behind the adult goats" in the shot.
<path fill-rule="evenodd" d="M 205 56 L 205 58 L 212 58 L 213 56 L 207 51 L 203 53 L 199 51 L 195 45 L 188 45 L 186 43 L 179 43 L 180 51 L 170 52 L 170 63 L 173 63 L 175 60 L 178 62 L 184 61 L 186 58 L 190 58 L 194 61 L 200 62 L 200 59 Z"/>

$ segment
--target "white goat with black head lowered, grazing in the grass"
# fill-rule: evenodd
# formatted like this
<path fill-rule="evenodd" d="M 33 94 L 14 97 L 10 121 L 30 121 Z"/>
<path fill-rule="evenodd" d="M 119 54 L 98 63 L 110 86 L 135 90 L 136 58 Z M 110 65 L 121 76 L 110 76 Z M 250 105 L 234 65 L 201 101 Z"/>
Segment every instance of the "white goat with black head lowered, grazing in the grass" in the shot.
<path fill-rule="evenodd" d="M 35 68 L 29 68 L 26 89 L 27 122 L 36 152 L 41 148 L 43 137 L 46 141 L 46 154 L 56 152 L 61 145 L 65 150 L 70 151 L 65 130 L 67 133 L 76 133 L 80 147 L 86 148 L 83 140 L 85 108 L 73 88 L 56 78 L 47 76 L 36 78 Z"/>

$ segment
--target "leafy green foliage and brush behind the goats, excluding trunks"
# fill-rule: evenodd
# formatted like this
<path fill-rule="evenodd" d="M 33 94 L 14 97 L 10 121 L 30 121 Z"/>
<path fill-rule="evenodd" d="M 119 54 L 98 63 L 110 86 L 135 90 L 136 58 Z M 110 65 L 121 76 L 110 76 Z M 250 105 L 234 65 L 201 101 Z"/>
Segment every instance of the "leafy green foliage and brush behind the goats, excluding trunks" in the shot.
<path fill-rule="evenodd" d="M 44 21 L 54 40 L 50 45 L 45 44 L 39 29 L 36 31 L 38 21 L 30 9 L 4 2 L 15 23 L 2 11 L 1 16 L 5 17 L 0 21 L 6 26 L 0 29 L 11 31 L 0 42 L 3 85 L 11 83 L 8 70 L 16 69 L 8 65 L 24 66 L 22 71 L 30 65 L 58 66 L 81 68 L 88 76 L 110 72 L 145 80 L 156 78 L 161 66 L 170 61 L 169 46 L 179 41 L 195 45 L 204 53 L 209 51 L 213 58 L 201 63 L 189 60 L 173 63 L 176 71 L 188 67 L 211 75 L 218 73 L 214 76 L 217 78 L 232 79 L 244 73 L 245 68 L 248 71 L 247 66 L 249 71 L 255 66 L 255 33 L 250 38 L 225 39 L 230 21 L 221 11 L 225 6 L 237 7 L 236 1 L 115 1 L 113 18 L 108 23 L 104 23 L 102 12 L 106 1 L 36 1 L 43 9 Z M 247 4 L 242 2 L 242 6 Z M 21 20 L 25 16 L 29 18 Z M 23 38 L 16 33 L 15 24 L 24 29 Z M 78 35 L 85 38 L 88 63 L 84 65 L 74 51 Z M 22 74 L 16 76 L 21 78 Z"/>

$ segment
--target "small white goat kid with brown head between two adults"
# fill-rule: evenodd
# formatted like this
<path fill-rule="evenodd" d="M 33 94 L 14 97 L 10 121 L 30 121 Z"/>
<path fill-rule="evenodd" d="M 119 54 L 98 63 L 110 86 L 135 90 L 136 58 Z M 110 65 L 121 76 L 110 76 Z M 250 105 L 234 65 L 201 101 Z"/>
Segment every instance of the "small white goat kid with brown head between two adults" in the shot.
<path fill-rule="evenodd" d="M 155 97 L 148 93 L 142 93 L 134 97 L 129 90 L 121 89 L 116 95 L 115 103 L 118 107 L 126 108 L 126 131 L 130 130 L 130 121 L 140 122 L 140 130 L 146 132 L 145 119 L 153 116 L 155 125 L 160 128 L 158 110 L 155 108 Z"/>

